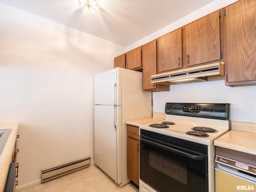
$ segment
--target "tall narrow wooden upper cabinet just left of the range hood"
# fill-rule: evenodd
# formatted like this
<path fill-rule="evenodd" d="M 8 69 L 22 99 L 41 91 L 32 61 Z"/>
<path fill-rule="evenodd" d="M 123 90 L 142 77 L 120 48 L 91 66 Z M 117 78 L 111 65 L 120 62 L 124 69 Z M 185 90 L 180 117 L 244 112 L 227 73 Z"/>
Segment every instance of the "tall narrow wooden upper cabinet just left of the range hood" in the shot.
<path fill-rule="evenodd" d="M 170 91 L 169 85 L 151 83 L 151 75 L 157 74 L 157 40 L 143 45 L 143 90 L 158 92 Z"/>

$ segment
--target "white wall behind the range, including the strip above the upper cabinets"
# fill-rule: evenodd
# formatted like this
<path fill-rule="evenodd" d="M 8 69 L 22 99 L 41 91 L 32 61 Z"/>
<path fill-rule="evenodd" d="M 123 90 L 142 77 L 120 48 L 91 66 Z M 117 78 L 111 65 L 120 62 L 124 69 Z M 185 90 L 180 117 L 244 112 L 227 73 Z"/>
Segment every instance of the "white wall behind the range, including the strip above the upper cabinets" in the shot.
<path fill-rule="evenodd" d="M 215 0 L 184 18 L 126 47 L 126 52 L 180 28 L 237 0 Z M 170 92 L 153 92 L 153 112 L 164 112 L 166 102 L 230 103 L 234 121 L 256 122 L 256 86 L 228 87 L 224 80 L 170 86 Z"/>

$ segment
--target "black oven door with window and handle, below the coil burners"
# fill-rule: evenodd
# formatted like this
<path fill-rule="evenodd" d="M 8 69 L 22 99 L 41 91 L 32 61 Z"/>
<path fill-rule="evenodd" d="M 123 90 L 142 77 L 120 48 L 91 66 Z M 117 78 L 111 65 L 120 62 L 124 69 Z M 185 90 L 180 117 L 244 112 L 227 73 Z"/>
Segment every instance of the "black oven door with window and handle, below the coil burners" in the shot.
<path fill-rule="evenodd" d="M 160 192 L 207 192 L 207 154 L 184 148 L 189 141 L 163 136 L 140 136 L 140 179 Z"/>

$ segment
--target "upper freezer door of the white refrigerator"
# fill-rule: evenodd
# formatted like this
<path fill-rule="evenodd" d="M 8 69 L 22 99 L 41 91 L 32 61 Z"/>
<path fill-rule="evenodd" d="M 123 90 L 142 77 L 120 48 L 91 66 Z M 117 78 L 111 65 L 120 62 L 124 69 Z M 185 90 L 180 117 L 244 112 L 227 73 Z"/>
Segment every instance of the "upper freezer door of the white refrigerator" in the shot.
<path fill-rule="evenodd" d="M 120 105 L 118 101 L 119 68 L 95 75 L 94 78 L 94 104 Z"/>

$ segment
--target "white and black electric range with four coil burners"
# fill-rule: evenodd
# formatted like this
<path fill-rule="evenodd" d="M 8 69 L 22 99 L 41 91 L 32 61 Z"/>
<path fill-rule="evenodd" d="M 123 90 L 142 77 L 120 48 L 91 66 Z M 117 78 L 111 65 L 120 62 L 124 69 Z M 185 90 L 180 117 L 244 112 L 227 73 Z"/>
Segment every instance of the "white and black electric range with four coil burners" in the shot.
<path fill-rule="evenodd" d="M 214 192 L 213 143 L 230 130 L 229 109 L 166 103 L 164 121 L 140 125 L 140 192 Z"/>

